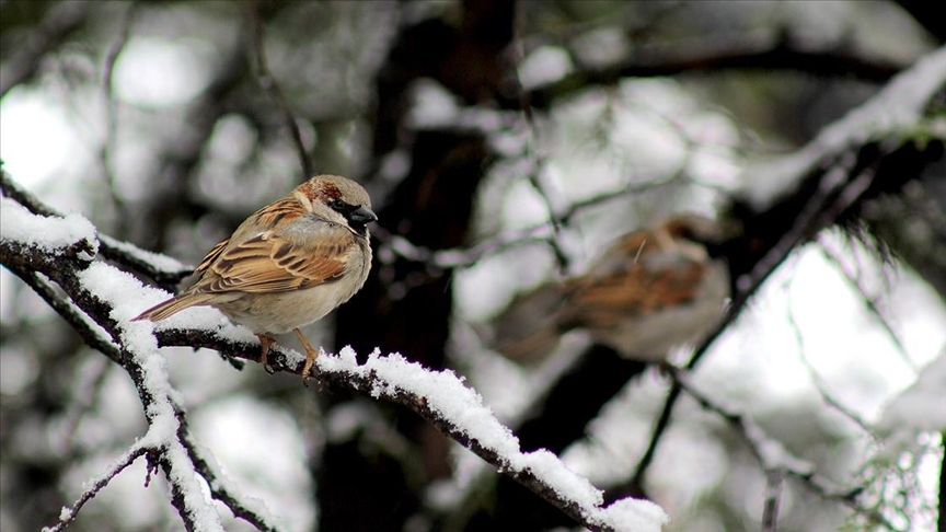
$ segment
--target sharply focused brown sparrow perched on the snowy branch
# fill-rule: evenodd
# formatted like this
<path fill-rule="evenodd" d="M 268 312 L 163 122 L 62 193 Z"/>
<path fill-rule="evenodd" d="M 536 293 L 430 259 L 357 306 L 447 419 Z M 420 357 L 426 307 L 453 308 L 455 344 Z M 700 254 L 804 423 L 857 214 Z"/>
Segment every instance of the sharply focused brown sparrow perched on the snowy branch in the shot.
<path fill-rule="evenodd" d="M 292 331 L 305 348 L 307 379 L 318 352 L 299 327 L 321 320 L 365 285 L 371 268 L 366 225 L 377 219 L 360 185 L 316 175 L 214 246 L 197 266 L 194 286 L 132 321 L 159 322 L 210 305 L 256 334 L 264 365 L 275 343 L 269 335 Z"/>

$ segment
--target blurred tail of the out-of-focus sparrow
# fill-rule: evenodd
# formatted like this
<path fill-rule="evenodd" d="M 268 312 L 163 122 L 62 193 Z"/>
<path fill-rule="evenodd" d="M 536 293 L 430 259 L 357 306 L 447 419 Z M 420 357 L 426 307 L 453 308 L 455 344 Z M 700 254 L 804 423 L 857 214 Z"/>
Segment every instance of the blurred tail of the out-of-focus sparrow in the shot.
<path fill-rule="evenodd" d="M 523 366 L 545 360 L 564 333 L 559 326 L 563 300 L 558 284 L 517 296 L 495 322 L 496 350 Z"/>

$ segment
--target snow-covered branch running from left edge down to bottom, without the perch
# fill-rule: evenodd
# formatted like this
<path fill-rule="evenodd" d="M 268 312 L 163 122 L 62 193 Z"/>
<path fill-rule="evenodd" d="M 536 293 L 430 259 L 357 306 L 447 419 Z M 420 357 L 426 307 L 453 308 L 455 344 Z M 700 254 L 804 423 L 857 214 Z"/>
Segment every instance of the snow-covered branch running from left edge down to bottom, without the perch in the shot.
<path fill-rule="evenodd" d="M 53 529 L 61 529 L 74 520 L 88 500 L 147 451 L 149 458 L 153 458 L 152 463 L 164 472 L 171 486 L 171 502 L 185 528 L 222 531 L 217 509 L 212 500 L 205 497 L 198 481 L 200 477 L 208 479 L 208 467 L 201 463 L 198 470 L 193 446 L 182 442 L 185 413 L 178 406 L 177 391 L 168 380 L 166 361 L 158 351 L 150 327 L 136 331 L 132 326 L 119 325 L 119 320 L 127 325 L 129 316 L 122 316 L 120 309 L 129 297 L 134 300 L 132 294 L 142 291 L 140 282 L 129 274 L 94 259 L 99 243 L 94 228 L 84 218 L 35 215 L 10 198 L 0 199 L 0 263 L 37 289 L 41 297 L 64 315 L 90 346 L 100 349 L 129 373 L 148 418 L 149 428 L 145 437 L 131 446 L 108 472 L 89 483 L 89 488 L 78 501 L 64 509 L 59 523 Z M 59 285 L 68 299 L 60 298 L 51 289 L 51 282 Z M 252 514 L 239 506 L 230 507 L 238 517 Z M 276 530 L 270 524 L 258 528 Z"/>

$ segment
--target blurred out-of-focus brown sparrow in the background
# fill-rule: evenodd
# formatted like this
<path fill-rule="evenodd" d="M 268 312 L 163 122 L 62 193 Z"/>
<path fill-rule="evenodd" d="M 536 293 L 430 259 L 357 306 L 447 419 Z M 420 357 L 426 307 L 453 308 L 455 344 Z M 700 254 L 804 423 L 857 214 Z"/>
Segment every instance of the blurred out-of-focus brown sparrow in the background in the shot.
<path fill-rule="evenodd" d="M 542 360 L 574 328 L 622 356 L 664 361 L 671 347 L 699 340 L 729 298 L 726 264 L 715 258 L 723 231 L 683 215 L 630 233 L 581 276 L 540 286 L 499 316 L 496 346 L 521 363 Z"/>

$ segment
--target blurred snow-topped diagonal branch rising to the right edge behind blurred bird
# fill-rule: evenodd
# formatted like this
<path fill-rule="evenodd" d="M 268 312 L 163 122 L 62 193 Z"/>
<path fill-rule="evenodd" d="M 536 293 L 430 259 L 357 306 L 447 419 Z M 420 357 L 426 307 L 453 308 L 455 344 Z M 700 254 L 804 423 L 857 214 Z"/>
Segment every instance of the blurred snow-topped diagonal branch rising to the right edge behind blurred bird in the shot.
<path fill-rule="evenodd" d="M 818 231 L 852 217 L 864 198 L 898 190 L 905 181 L 942 157 L 942 140 L 918 146 L 901 132 L 901 128 L 922 129 L 924 111 L 942 92 L 944 80 L 946 48 L 941 48 L 891 80 L 887 88 L 861 108 L 827 127 L 805 148 L 768 165 L 749 169 L 770 178 L 797 184 L 797 190 L 787 198 L 781 198 L 781 203 L 776 203 L 776 196 L 754 201 L 764 203 L 762 207 L 737 206 L 737 210 L 741 209 L 742 215 L 753 219 L 752 227 L 747 227 L 747 230 L 757 233 L 750 232 L 747 240 L 765 242 L 766 234 L 780 236 L 760 256 L 748 259 L 752 265 L 748 275 L 737 278 L 736 294 L 726 315 L 696 348 L 687 370 L 696 367 L 752 294 L 796 247 L 810 241 Z M 892 118 L 895 116 L 896 119 Z M 887 140 L 872 140 L 877 138 Z M 760 216 L 754 209 L 764 209 L 764 212 Z M 764 233 L 758 232 L 760 230 Z M 730 268 L 737 259 L 745 261 L 734 255 L 727 257 Z M 736 267 L 738 269 L 738 265 Z M 644 475 L 669 425 L 679 396 L 680 388 L 674 382 L 634 475 L 613 493 L 639 493 Z"/>

